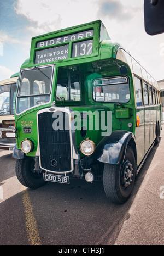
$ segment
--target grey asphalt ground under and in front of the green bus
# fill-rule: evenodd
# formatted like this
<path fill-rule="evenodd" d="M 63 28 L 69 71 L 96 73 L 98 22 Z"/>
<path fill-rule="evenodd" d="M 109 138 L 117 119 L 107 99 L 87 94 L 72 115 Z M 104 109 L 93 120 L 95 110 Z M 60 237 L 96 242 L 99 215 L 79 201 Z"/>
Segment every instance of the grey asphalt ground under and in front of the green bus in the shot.
<path fill-rule="evenodd" d="M 1 245 L 163 245 L 164 127 L 125 204 L 108 201 L 100 182 L 49 182 L 31 190 L 15 176 L 15 159 L 0 151 Z"/>

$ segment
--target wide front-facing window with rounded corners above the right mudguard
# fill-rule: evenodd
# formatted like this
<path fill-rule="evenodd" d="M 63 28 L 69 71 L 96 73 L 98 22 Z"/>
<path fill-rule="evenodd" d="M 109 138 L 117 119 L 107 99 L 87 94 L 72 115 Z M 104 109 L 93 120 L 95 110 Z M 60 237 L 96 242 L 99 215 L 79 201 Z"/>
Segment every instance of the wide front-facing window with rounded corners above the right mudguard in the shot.
<path fill-rule="evenodd" d="M 96 102 L 127 103 L 130 88 L 127 77 L 106 77 L 93 81 L 93 99 Z"/>

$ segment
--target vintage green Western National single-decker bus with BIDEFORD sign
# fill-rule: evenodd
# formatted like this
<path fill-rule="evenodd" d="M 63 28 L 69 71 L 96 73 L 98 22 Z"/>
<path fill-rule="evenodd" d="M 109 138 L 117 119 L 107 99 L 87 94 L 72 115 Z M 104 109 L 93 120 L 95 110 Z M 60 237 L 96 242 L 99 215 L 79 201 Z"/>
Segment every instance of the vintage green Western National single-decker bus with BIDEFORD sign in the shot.
<path fill-rule="evenodd" d="M 101 181 L 124 203 L 159 142 L 159 92 L 101 20 L 33 37 L 16 97 L 17 178 L 30 188 Z"/>

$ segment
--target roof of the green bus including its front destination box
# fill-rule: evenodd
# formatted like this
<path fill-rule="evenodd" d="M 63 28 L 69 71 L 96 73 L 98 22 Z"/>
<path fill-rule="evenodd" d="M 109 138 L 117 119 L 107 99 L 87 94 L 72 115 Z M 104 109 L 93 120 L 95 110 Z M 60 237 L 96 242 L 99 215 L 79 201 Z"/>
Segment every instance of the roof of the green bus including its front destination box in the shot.
<path fill-rule="evenodd" d="M 74 65 L 109 58 L 127 63 L 133 74 L 159 89 L 157 82 L 139 62 L 120 44 L 110 40 L 101 20 L 32 37 L 30 58 L 25 60 L 21 69 L 52 63 Z M 110 64 L 114 65 L 113 62 Z"/>

